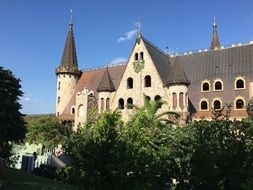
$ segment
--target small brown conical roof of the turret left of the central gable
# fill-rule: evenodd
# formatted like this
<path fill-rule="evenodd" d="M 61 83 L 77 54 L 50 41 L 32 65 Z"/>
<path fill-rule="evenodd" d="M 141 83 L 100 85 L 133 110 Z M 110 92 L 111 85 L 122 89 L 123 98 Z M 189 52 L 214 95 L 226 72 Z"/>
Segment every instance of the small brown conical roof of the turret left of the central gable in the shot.
<path fill-rule="evenodd" d="M 108 71 L 108 67 L 105 69 L 104 75 L 98 85 L 98 92 L 113 92 L 115 91 L 114 84 Z"/>

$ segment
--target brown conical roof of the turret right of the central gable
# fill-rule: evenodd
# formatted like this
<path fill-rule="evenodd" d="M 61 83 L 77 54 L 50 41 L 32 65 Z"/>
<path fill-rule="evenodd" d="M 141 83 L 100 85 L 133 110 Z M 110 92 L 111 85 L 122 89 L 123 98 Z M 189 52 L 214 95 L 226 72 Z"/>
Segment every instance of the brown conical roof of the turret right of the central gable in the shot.
<path fill-rule="evenodd" d="M 175 63 L 168 75 L 168 79 L 166 82 L 167 86 L 173 85 L 173 84 L 186 84 L 189 85 L 190 81 L 188 80 L 185 72 L 183 71 L 182 67 L 180 66 L 180 58 L 175 58 Z"/>

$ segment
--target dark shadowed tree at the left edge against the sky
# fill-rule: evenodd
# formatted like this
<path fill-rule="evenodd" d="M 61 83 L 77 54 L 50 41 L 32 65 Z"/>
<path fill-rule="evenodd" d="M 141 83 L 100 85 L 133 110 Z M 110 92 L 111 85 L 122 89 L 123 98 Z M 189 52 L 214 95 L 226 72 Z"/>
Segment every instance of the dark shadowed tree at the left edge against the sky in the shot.
<path fill-rule="evenodd" d="M 25 123 L 18 102 L 23 92 L 20 79 L 10 70 L 0 67 L 0 157 L 9 159 L 11 142 L 19 142 L 25 135 Z"/>

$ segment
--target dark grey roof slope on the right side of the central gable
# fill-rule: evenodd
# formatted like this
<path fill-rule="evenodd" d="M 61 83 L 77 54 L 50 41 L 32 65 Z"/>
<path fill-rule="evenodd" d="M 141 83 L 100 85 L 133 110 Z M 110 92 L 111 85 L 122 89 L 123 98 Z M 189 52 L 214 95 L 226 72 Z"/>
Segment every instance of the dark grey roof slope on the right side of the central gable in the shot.
<path fill-rule="evenodd" d="M 162 52 L 159 48 L 157 48 L 151 42 L 149 42 L 147 39 L 145 39 L 143 36 L 141 36 L 141 38 L 156 67 L 156 70 L 163 84 L 165 85 L 167 81 L 167 77 L 171 69 L 171 65 L 169 63 L 169 56 L 166 55 L 164 52 Z"/>

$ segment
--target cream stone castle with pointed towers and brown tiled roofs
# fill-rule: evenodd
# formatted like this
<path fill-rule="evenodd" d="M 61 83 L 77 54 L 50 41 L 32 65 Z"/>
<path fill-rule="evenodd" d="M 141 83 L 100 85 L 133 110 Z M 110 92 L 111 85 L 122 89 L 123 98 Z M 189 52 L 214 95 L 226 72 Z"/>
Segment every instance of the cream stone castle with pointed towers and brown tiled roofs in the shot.
<path fill-rule="evenodd" d="M 159 110 L 177 112 L 182 121 L 211 119 L 212 108 L 230 103 L 231 118 L 242 119 L 253 97 L 253 41 L 224 47 L 214 22 L 209 49 L 168 55 L 139 32 L 127 63 L 82 71 L 71 22 L 55 73 L 56 115 L 75 128 L 94 110 L 118 108 L 126 121 L 144 96 L 164 100 Z"/>

